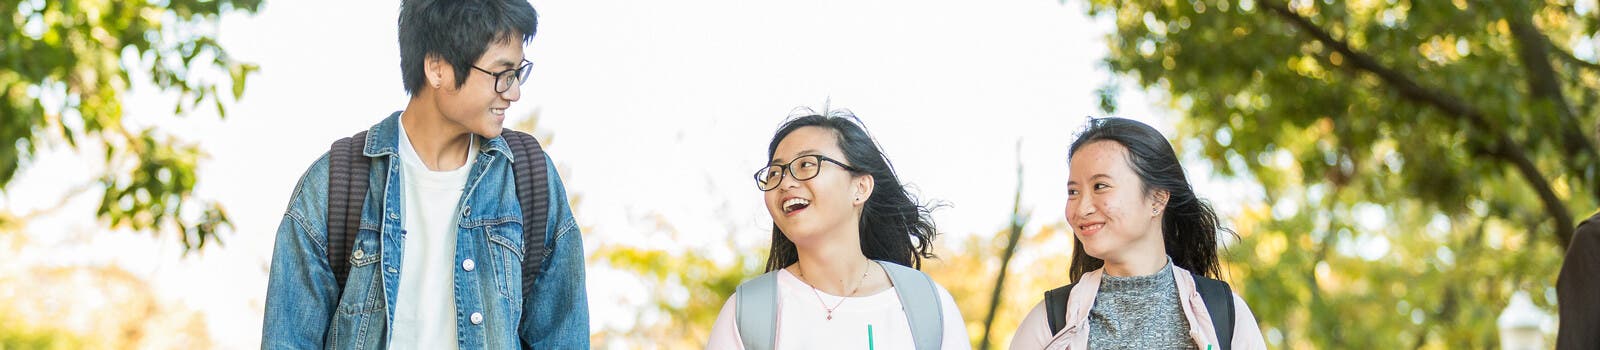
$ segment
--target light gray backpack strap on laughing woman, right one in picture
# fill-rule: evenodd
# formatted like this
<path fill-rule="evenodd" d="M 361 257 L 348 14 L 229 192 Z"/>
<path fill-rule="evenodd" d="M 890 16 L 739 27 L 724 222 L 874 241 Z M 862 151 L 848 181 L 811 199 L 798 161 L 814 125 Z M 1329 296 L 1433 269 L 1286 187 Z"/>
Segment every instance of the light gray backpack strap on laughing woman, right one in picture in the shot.
<path fill-rule="evenodd" d="M 878 262 L 888 272 L 894 292 L 901 297 L 901 308 L 906 308 L 906 323 L 910 324 L 912 344 L 918 350 L 933 350 L 944 345 L 944 305 L 939 302 L 939 288 L 926 273 L 902 267 L 893 262 Z"/>

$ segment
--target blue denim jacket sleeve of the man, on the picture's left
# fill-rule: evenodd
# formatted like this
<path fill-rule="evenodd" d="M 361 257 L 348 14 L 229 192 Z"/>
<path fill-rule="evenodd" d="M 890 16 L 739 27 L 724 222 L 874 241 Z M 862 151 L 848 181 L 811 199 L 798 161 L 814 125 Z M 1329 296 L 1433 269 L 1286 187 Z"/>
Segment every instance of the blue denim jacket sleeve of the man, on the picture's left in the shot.
<path fill-rule="evenodd" d="M 338 302 L 326 257 L 328 157 L 301 176 L 278 224 L 261 348 L 323 348 Z"/>

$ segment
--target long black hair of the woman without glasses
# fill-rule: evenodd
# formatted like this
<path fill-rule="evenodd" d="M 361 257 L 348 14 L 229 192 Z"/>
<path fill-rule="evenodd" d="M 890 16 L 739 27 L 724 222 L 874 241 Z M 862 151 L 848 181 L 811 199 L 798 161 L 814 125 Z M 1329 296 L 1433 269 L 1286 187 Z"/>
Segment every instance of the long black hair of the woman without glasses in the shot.
<path fill-rule="evenodd" d="M 1173 264 L 1202 276 L 1218 278 L 1222 267 L 1218 264 L 1216 237 L 1219 232 L 1235 233 L 1221 225 L 1210 203 L 1195 197 L 1173 144 L 1155 128 L 1134 120 L 1090 118 L 1078 139 L 1072 141 L 1067 158 L 1072 158 L 1080 147 L 1099 141 L 1112 141 L 1128 149 L 1128 166 L 1139 174 L 1147 195 L 1155 190 L 1171 193 L 1163 209 L 1166 216 L 1162 217 L 1162 241 L 1166 243 L 1166 256 L 1173 257 Z M 1072 240 L 1069 270 L 1072 281 L 1104 265 L 1106 261 L 1090 256 L 1078 240 Z"/>

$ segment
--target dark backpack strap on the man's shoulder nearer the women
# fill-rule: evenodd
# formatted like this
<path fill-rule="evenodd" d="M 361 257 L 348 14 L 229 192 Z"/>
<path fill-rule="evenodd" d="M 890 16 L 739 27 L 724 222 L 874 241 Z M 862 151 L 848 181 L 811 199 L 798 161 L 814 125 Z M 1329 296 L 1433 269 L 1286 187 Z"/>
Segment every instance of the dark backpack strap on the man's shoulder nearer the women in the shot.
<path fill-rule="evenodd" d="M 550 251 L 544 241 L 544 225 L 550 214 L 550 176 L 538 139 L 515 129 L 501 131 L 501 137 L 510 145 L 517 201 L 522 205 L 522 294 L 530 296 Z"/>

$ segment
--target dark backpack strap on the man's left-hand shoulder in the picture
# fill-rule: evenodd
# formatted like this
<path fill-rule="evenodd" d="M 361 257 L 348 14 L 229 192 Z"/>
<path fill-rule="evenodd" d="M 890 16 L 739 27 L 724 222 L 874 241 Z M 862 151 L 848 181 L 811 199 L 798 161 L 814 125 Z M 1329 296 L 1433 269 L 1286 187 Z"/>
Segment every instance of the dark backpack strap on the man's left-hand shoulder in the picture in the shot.
<path fill-rule="evenodd" d="M 328 149 L 328 267 L 334 286 L 344 289 L 350 275 L 350 243 L 362 229 L 362 205 L 366 203 L 368 173 L 366 131 L 333 142 Z"/>

